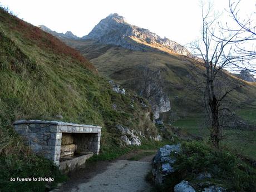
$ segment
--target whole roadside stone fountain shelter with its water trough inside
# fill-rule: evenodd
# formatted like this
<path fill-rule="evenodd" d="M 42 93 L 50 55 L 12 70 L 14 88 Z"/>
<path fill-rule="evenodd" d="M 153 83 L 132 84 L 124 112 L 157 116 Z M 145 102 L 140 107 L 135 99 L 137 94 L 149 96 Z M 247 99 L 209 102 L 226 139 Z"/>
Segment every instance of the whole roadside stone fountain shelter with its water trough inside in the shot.
<path fill-rule="evenodd" d="M 61 121 L 19 120 L 14 129 L 33 151 L 52 160 L 64 172 L 99 154 L 101 127 Z"/>

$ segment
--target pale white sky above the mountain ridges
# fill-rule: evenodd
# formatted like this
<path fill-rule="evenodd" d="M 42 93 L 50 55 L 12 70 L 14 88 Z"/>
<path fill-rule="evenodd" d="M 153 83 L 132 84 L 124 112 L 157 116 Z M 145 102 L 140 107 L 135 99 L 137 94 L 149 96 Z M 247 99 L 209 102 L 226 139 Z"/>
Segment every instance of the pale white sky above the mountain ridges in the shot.
<path fill-rule="evenodd" d="M 8 6 L 24 21 L 35 26 L 44 24 L 57 32 L 72 31 L 82 37 L 87 35 L 101 19 L 110 13 L 118 13 L 124 16 L 127 22 L 150 29 L 151 32 L 161 37 L 166 36 L 181 45 L 200 37 L 199 2 L 199 0 L 0 0 L 3 6 Z M 215 0 L 213 3 L 220 12 L 228 8 L 228 0 Z M 252 13 L 255 8 L 253 0 L 242 0 L 242 5 L 243 13 Z"/>

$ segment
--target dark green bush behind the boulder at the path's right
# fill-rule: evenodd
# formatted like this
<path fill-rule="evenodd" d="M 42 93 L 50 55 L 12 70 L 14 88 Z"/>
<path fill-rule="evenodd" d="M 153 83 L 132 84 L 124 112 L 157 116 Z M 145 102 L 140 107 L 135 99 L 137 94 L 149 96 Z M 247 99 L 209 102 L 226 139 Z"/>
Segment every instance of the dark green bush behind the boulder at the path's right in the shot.
<path fill-rule="evenodd" d="M 198 141 L 184 142 L 181 149 L 182 152 L 175 154 L 174 166 L 182 179 L 196 184 L 196 175 L 207 172 L 212 178 L 206 180 L 227 190 L 256 190 L 256 170 L 231 152 L 216 150 Z"/>

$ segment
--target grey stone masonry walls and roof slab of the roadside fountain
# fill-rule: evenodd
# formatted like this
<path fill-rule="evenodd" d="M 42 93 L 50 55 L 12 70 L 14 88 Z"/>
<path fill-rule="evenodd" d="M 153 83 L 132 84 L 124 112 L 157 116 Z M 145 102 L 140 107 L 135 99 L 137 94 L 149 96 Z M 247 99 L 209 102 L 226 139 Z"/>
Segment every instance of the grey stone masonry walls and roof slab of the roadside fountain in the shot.
<path fill-rule="evenodd" d="M 73 143 L 70 143 L 72 150 L 75 145 L 78 153 L 90 151 L 93 154 L 99 154 L 100 126 L 60 121 L 20 120 L 14 122 L 14 129 L 26 138 L 33 151 L 42 154 L 57 165 L 60 165 L 62 134 L 72 135 Z"/>

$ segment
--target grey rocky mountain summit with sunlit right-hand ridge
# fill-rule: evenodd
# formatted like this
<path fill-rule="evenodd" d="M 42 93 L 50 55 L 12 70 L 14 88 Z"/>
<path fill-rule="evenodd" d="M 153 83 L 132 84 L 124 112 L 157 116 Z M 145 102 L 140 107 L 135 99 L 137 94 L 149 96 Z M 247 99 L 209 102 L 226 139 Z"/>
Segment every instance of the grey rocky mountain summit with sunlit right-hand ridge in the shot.
<path fill-rule="evenodd" d="M 180 55 L 193 57 L 185 47 L 168 38 L 161 38 L 148 29 L 140 28 L 127 23 L 124 17 L 117 13 L 110 14 L 102 19 L 92 31 L 83 36 L 83 39 L 97 40 L 101 43 L 113 44 L 131 50 L 144 50 L 151 45 L 166 48 Z M 133 40 L 133 41 L 132 41 Z"/>

